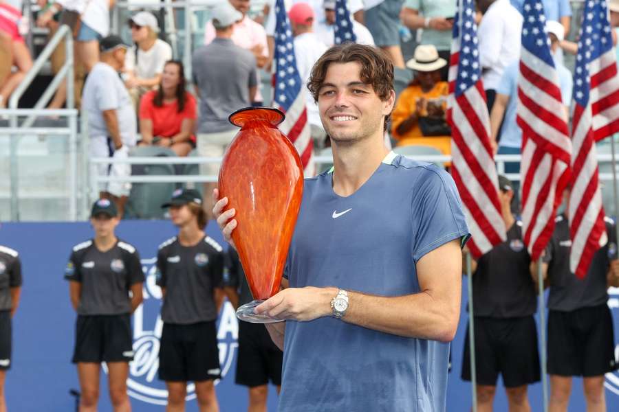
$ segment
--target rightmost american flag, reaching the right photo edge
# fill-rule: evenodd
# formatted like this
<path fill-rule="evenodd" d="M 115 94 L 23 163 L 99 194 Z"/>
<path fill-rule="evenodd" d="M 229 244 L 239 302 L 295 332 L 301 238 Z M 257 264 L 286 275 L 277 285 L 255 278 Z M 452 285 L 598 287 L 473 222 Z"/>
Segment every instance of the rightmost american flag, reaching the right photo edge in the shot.
<path fill-rule="evenodd" d="M 573 187 L 569 196 L 569 268 L 583 278 L 608 241 L 595 142 L 619 130 L 619 79 L 606 1 L 585 4 L 574 73 Z"/>

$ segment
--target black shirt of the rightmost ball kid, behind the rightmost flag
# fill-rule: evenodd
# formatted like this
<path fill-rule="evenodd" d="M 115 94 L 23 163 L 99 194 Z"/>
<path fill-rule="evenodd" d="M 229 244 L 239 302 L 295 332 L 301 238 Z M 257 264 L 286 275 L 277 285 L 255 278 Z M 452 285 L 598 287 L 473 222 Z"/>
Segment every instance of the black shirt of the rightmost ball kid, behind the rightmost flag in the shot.
<path fill-rule="evenodd" d="M 552 239 L 546 248 L 550 295 L 548 308 L 571 312 L 580 308 L 600 306 L 608 301 L 607 274 L 610 261 L 617 258 L 617 233 L 610 218 L 605 218 L 608 242 L 591 260 L 584 279 L 578 279 L 569 270 L 569 252 L 572 240 L 565 216 L 557 216 Z"/>

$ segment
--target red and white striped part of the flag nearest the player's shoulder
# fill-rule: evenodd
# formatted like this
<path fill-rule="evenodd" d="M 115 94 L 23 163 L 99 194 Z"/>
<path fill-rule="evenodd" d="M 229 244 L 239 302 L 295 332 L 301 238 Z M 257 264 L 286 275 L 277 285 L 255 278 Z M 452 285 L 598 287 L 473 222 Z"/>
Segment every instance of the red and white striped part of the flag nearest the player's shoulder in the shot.
<path fill-rule="evenodd" d="M 475 259 L 506 240 L 498 178 L 490 147 L 490 119 L 481 79 L 455 96 L 459 38 L 453 38 L 449 66 L 448 121 L 452 130 L 451 174 L 471 233 L 467 247 Z"/>

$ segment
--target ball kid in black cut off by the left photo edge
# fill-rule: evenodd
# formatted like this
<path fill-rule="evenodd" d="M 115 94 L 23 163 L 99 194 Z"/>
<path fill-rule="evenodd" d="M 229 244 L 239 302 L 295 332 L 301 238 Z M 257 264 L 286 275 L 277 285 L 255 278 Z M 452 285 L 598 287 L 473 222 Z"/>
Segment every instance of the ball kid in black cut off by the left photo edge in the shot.
<path fill-rule="evenodd" d="M 21 262 L 17 251 L 0 246 L 0 411 L 6 411 L 4 381 L 11 367 L 11 318 L 19 304 Z"/>

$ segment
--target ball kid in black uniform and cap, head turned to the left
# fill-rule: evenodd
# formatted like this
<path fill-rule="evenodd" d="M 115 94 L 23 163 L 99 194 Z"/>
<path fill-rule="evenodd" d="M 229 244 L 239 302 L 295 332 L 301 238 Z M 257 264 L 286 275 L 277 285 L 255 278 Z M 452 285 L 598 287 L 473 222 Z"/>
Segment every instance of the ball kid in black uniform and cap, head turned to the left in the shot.
<path fill-rule="evenodd" d="M 223 297 L 224 254 L 206 236 L 202 196 L 177 190 L 170 208 L 175 236 L 159 247 L 157 284 L 163 293 L 164 326 L 159 352 L 159 378 L 166 381 L 166 411 L 184 411 L 187 382 L 195 382 L 200 411 L 219 411 L 213 380 L 221 375 L 215 321 Z"/>

